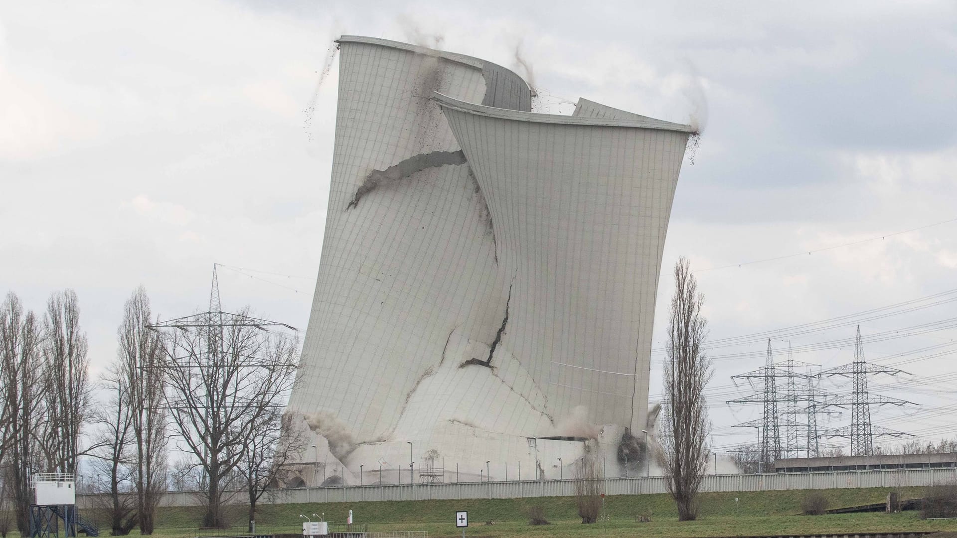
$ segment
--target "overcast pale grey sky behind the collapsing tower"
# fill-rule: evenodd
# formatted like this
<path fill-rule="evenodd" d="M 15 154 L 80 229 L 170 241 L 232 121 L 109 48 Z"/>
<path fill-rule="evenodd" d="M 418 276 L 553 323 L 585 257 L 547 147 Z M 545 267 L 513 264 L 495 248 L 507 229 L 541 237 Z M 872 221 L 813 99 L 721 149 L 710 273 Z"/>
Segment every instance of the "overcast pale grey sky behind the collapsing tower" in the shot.
<path fill-rule="evenodd" d="M 317 89 L 319 73 L 332 39 L 366 34 L 512 67 L 545 112 L 570 113 L 581 96 L 704 124 L 675 199 L 656 347 L 679 256 L 699 270 L 713 339 L 944 292 L 957 288 L 957 222 L 937 224 L 957 219 L 955 29 L 949 1 L 4 3 L 0 290 L 41 310 L 51 291 L 76 289 L 98 371 L 135 286 L 155 313 L 186 315 L 208 303 L 213 262 L 262 272 L 220 270 L 226 309 L 248 303 L 304 329 L 338 65 Z M 867 344 L 957 318 L 953 304 L 866 321 L 867 357 L 953 342 L 944 324 Z M 853 331 L 826 324 L 790 340 Z M 783 358 L 787 343 L 773 345 Z M 758 351 L 716 362 L 719 447 L 753 436 L 729 426 L 757 410 L 723 401 L 747 392 L 728 376 L 761 366 L 766 346 L 712 351 Z M 906 355 L 917 375 L 903 379 L 918 382 L 875 380 L 923 404 L 876 410 L 876 422 L 957 435 L 953 348 Z M 852 357 L 847 346 L 795 355 L 828 368 Z M 657 364 L 653 379 L 659 392 Z"/>

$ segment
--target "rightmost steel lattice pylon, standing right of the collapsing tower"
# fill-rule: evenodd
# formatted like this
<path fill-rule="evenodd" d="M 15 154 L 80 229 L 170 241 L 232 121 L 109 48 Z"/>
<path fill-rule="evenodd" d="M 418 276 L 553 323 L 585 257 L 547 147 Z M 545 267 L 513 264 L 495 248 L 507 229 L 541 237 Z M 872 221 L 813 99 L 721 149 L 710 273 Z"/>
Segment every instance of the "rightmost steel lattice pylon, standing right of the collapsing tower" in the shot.
<path fill-rule="evenodd" d="M 851 424 L 849 426 L 830 430 L 822 436 L 845 437 L 850 439 L 851 456 L 870 456 L 874 454 L 874 437 L 901 437 L 909 435 L 897 430 L 876 426 L 871 422 L 871 406 L 902 406 L 913 403 L 899 398 L 872 394 L 867 388 L 867 377 L 873 373 L 898 375 L 907 372 L 874 365 L 865 361 L 864 346 L 860 338 L 860 325 L 857 325 L 854 362 L 832 370 L 825 370 L 818 374 L 819 377 L 841 375 L 851 378 L 852 389 L 850 394 L 835 396 L 820 404 L 824 407 L 851 408 Z"/>

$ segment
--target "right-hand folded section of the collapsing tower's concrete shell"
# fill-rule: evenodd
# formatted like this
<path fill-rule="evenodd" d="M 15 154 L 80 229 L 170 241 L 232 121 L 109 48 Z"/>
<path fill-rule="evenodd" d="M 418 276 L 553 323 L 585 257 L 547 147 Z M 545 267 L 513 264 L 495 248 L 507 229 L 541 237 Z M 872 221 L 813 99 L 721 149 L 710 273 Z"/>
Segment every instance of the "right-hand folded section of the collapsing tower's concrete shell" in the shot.
<path fill-rule="evenodd" d="M 690 127 L 589 103 L 555 116 L 434 96 L 513 276 L 501 346 L 549 411 L 644 429 L 661 255 Z M 501 225 L 499 225 L 501 223 Z"/>

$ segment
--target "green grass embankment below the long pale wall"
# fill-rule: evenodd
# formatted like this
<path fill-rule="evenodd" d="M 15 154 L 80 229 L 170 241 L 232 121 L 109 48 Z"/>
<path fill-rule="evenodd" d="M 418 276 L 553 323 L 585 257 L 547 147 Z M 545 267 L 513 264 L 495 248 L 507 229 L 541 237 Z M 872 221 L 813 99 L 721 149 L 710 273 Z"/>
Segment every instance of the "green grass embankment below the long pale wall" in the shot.
<path fill-rule="evenodd" d="M 920 487 L 902 488 L 902 498 L 920 497 Z M 827 489 L 822 492 L 831 507 L 882 502 L 889 488 Z M 815 532 L 865 532 L 895 530 L 957 530 L 957 521 L 922 521 L 917 512 L 901 514 L 864 513 L 801 516 L 807 490 L 730 492 L 701 494 L 701 517 L 695 522 L 678 522 L 675 504 L 667 495 L 616 495 L 605 501 L 608 519 L 595 525 L 581 525 L 572 497 L 525 499 L 469 499 L 454 501 L 390 501 L 368 503 L 263 504 L 256 514 L 260 532 L 300 532 L 300 514 L 325 513 L 333 523 L 345 522 L 353 510 L 357 524 L 368 530 L 426 530 L 429 536 L 459 536 L 453 526 L 456 510 L 468 510 L 471 526 L 466 536 L 476 538 L 523 536 L 748 536 Z M 738 502 L 735 503 L 735 498 Z M 553 525 L 528 526 L 530 506 L 541 505 Z M 236 507 L 234 532 L 245 531 L 245 510 Z M 638 523 L 638 516 L 651 518 Z M 224 534 L 224 531 L 197 530 L 198 508 L 161 508 L 156 534 L 197 536 Z M 494 525 L 485 525 L 492 521 Z M 134 531 L 134 534 L 138 534 Z"/>

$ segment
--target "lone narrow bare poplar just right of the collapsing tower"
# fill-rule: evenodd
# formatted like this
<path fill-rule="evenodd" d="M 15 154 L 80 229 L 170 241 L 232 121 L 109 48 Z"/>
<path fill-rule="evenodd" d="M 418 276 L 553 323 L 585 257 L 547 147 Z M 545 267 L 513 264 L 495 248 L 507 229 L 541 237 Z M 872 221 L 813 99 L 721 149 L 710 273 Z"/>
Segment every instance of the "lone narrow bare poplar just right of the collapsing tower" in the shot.
<path fill-rule="evenodd" d="M 664 366 L 665 419 L 662 427 L 662 464 L 669 475 L 668 492 L 678 504 L 679 521 L 698 517 L 698 490 L 707 464 L 707 437 L 711 431 L 704 386 L 713 373 L 701 345 L 706 321 L 701 317 L 704 296 L 687 259 L 675 264 L 675 295 L 668 323 Z"/>

